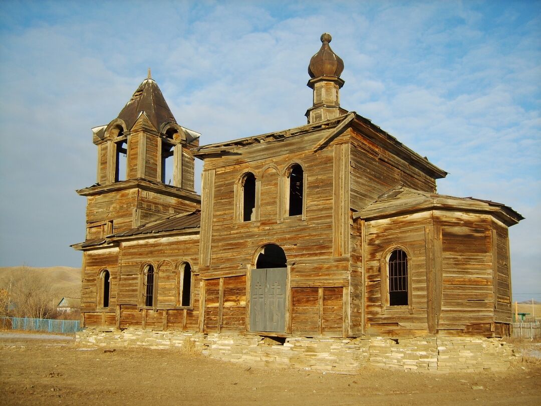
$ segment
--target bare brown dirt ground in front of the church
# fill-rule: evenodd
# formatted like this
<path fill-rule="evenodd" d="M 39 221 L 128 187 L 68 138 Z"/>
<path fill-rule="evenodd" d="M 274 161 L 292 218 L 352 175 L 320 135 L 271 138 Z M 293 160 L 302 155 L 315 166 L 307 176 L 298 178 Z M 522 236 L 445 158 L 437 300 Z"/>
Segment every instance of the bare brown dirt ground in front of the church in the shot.
<path fill-rule="evenodd" d="M 541 349 L 541 344 L 530 349 Z M 527 347 L 527 345 L 526 345 Z M 0 404 L 541 404 L 541 362 L 505 372 L 273 370 L 175 350 L 88 349 L 63 337 L 0 334 Z"/>

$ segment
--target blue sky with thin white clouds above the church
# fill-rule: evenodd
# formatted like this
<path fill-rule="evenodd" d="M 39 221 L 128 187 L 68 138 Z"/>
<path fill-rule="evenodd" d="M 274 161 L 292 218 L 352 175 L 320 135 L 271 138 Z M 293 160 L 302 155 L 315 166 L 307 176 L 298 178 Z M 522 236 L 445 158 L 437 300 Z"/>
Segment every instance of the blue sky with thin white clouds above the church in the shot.
<path fill-rule="evenodd" d="M 322 32 L 341 105 L 449 172 L 438 191 L 503 202 L 513 293 L 541 300 L 540 2 L 0 3 L 0 266 L 80 266 L 91 127 L 152 69 L 202 143 L 305 123 Z M 200 165 L 199 165 L 200 167 Z"/>

